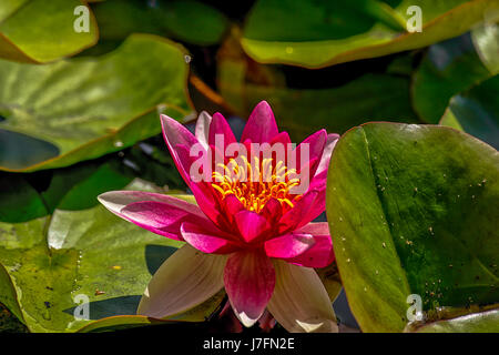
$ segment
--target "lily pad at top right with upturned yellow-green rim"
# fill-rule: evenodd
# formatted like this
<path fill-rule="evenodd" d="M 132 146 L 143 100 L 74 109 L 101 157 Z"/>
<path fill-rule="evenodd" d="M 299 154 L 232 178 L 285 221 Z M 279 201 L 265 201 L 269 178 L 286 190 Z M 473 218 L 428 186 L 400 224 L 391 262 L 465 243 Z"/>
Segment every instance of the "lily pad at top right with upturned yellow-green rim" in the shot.
<path fill-rule="evenodd" d="M 421 9 L 421 32 L 406 30 L 411 6 Z M 498 8 L 498 0 L 261 0 L 242 44 L 258 62 L 322 68 L 440 42 Z"/>

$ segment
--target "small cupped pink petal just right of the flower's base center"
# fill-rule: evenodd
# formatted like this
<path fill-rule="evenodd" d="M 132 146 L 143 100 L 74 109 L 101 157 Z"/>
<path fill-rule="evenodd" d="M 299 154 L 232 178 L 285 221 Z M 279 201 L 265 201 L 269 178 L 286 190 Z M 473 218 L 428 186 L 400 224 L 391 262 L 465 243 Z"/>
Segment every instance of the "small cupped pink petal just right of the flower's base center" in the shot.
<path fill-rule="evenodd" d="M 310 234 L 292 233 L 268 240 L 264 245 L 268 257 L 291 258 L 305 253 L 314 243 Z"/>

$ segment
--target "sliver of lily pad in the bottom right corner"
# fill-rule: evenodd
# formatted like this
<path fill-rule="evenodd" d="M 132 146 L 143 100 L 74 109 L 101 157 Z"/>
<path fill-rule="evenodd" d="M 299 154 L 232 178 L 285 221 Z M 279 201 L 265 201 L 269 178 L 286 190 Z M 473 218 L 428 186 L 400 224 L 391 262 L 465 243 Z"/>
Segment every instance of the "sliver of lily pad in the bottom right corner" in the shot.
<path fill-rule="evenodd" d="M 438 321 L 416 329 L 417 333 L 499 333 L 499 311 L 487 311 L 454 320 Z"/>

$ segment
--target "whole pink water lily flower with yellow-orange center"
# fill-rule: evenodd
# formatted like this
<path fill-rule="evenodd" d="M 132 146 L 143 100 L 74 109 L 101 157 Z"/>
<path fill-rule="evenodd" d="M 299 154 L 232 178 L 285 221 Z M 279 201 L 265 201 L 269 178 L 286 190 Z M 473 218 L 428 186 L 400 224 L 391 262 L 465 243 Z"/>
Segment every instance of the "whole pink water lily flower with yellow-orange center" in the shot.
<path fill-rule="evenodd" d="M 186 242 L 154 274 L 138 313 L 170 317 L 225 287 L 245 326 L 267 310 L 289 332 L 336 332 L 329 296 L 314 270 L 334 261 L 332 240 L 326 222 L 312 221 L 325 210 L 338 135 L 320 130 L 292 145 L 265 101 L 249 115 L 240 142 L 220 113 L 203 112 L 195 134 L 166 115 L 161 121 L 197 204 L 136 191 L 99 196 L 120 217 Z M 292 149 L 278 153 L 273 148 L 279 144 Z M 227 158 L 231 146 L 241 150 Z"/>

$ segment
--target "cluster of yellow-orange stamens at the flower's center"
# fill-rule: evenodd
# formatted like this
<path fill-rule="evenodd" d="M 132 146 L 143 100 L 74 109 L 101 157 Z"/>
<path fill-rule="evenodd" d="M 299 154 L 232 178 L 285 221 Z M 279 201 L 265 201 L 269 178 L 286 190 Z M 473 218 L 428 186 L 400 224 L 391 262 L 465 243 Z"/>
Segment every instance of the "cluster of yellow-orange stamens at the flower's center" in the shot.
<path fill-rule="evenodd" d="M 276 199 L 283 207 L 293 207 L 302 195 L 292 194 L 289 190 L 299 184 L 295 169 L 287 169 L 283 161 L 276 164 L 272 158 L 259 162 L 254 158 L 251 164 L 246 156 L 241 156 L 241 164 L 231 159 L 228 164 L 217 164 L 223 173 L 213 173 L 212 186 L 220 192 L 222 199 L 233 194 L 246 210 L 259 212 L 271 199 Z"/>

